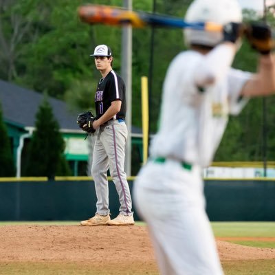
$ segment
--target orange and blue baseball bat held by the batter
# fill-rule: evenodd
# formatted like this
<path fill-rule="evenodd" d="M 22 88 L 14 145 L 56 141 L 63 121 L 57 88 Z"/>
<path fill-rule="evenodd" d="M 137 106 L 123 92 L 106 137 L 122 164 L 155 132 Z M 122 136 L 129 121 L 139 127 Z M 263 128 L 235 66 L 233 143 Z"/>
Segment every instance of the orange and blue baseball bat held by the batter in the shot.
<path fill-rule="evenodd" d="M 135 12 L 124 8 L 109 5 L 81 5 L 78 7 L 80 20 L 89 23 L 102 23 L 105 25 L 131 25 L 134 28 L 166 27 L 166 28 L 191 28 L 195 30 L 206 30 L 209 32 L 220 32 L 222 25 L 212 22 L 186 22 L 179 17 L 170 17 L 164 14 L 149 12 Z"/>

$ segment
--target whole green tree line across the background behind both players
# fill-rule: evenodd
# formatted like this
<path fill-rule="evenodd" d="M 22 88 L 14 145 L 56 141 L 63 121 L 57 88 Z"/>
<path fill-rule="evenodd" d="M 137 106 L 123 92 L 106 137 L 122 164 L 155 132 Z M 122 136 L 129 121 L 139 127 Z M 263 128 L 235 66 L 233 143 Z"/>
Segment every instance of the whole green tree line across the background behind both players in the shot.
<path fill-rule="evenodd" d="M 157 0 L 155 12 L 184 17 L 190 2 Z M 85 3 L 82 0 L 0 1 L 0 61 L 3 64 L 0 78 L 65 100 L 71 109 L 93 109 L 100 75 L 89 54 L 96 45 L 110 45 L 114 54 L 113 69 L 119 73 L 122 29 L 80 22 L 76 10 Z M 123 1 L 101 0 L 100 4 L 122 6 Z M 133 1 L 133 10 L 151 12 L 153 0 Z M 246 21 L 261 20 L 252 10 L 243 10 L 243 15 Z M 272 10 L 267 13 L 267 22 L 275 25 Z M 133 30 L 133 125 L 141 126 L 140 78 L 148 76 L 151 69 L 150 131 L 155 133 L 166 69 L 173 57 L 183 50 L 186 47 L 182 30 Z M 243 41 L 233 67 L 256 72 L 257 58 L 256 52 Z M 265 101 L 262 98 L 250 100 L 241 115 L 230 118 L 214 160 L 261 161 L 265 142 L 267 159 L 274 160 L 274 106 L 274 96 Z"/>

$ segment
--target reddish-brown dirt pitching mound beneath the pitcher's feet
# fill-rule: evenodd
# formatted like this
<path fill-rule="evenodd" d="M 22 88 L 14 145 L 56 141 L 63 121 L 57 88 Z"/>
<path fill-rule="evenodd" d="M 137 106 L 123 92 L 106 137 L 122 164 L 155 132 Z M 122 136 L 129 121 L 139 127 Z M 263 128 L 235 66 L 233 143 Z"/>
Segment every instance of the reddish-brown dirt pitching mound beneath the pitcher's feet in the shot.
<path fill-rule="evenodd" d="M 135 263 L 155 268 L 146 228 L 140 226 L 0 226 L 0 261 Z M 217 240 L 221 261 L 275 259 L 275 250 Z"/>

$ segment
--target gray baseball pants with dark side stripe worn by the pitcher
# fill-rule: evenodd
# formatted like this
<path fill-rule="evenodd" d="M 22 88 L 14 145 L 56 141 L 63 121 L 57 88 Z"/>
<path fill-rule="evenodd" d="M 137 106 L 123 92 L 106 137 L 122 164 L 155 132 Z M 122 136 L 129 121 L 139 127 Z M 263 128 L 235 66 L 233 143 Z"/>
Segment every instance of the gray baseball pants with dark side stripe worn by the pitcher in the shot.
<path fill-rule="evenodd" d="M 111 120 L 100 126 L 96 132 L 91 175 L 94 178 L 96 213 L 102 216 L 109 214 L 109 186 L 107 170 L 115 184 L 120 200 L 120 213 L 131 215 L 132 199 L 124 172 L 125 144 L 128 135 L 125 122 Z"/>

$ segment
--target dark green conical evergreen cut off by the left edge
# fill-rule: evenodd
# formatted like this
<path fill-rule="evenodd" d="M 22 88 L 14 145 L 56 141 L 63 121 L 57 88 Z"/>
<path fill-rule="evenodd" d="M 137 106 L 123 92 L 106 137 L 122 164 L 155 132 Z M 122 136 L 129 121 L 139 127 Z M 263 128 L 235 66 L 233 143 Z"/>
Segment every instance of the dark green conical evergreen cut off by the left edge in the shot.
<path fill-rule="evenodd" d="M 3 123 L 3 115 L 0 107 L 0 177 L 14 177 L 15 167 L 12 157 L 12 146 L 8 131 Z"/>

